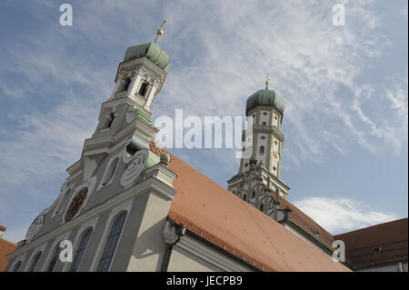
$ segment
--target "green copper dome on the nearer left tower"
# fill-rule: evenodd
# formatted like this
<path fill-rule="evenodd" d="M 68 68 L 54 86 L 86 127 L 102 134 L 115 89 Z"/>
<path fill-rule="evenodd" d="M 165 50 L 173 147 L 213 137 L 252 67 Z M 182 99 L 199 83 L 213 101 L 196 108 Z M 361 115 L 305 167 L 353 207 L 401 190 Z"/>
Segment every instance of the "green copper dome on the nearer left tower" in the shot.
<path fill-rule="evenodd" d="M 146 57 L 155 65 L 167 72 L 170 57 L 159 45 L 149 43 L 145 45 L 130 46 L 126 49 L 124 61 L 132 60 L 139 57 Z"/>

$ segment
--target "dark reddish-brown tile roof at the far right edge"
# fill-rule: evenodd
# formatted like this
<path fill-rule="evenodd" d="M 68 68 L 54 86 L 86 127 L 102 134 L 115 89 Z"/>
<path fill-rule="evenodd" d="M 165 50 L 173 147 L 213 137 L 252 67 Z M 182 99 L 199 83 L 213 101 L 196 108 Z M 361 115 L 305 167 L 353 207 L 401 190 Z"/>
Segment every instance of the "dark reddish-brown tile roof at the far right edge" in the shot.
<path fill-rule="evenodd" d="M 373 225 L 334 239 L 345 243 L 346 259 L 360 268 L 408 260 L 408 219 Z"/>

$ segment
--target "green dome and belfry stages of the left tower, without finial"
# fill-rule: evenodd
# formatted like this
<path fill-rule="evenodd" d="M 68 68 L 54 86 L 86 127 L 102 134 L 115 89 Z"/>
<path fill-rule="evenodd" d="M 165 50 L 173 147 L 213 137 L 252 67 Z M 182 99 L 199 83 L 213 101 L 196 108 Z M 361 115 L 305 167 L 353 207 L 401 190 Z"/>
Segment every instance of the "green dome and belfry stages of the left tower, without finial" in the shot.
<path fill-rule="evenodd" d="M 165 81 L 169 55 L 155 43 L 131 46 L 119 65 L 115 88 L 103 103 L 94 136 L 113 135 L 138 111 L 150 118 L 151 104 Z"/>

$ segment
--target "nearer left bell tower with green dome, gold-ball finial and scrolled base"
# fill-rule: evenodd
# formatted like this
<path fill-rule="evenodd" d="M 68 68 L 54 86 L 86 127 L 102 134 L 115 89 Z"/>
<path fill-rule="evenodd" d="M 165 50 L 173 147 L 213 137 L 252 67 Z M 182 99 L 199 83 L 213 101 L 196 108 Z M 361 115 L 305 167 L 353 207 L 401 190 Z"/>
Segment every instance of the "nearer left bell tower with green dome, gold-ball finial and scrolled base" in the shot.
<path fill-rule="evenodd" d="M 158 36 L 163 33 L 162 26 L 156 32 Z M 158 131 L 151 122 L 151 105 L 164 85 L 170 57 L 155 42 L 126 49 L 124 61 L 118 65 L 115 75 L 115 87 L 101 105 L 95 132 L 85 139 L 81 159 L 67 169 L 69 175 L 75 175 L 82 168 L 91 168 L 89 173 L 83 169 L 87 177 L 101 170 L 102 178 L 95 185 L 95 191 L 113 188 L 111 184 L 121 166 L 120 160 L 128 164 L 141 150 L 146 153 L 144 162 L 134 160 L 139 167 L 159 161 L 149 153 L 149 144 Z M 125 189 L 135 184 L 138 175 L 134 173 L 139 172 L 135 170 L 138 166 L 129 167 L 135 172 L 129 169 L 132 176 L 127 176 L 126 170 L 122 175 L 120 185 Z M 139 167 L 138 170 L 143 170 Z"/>

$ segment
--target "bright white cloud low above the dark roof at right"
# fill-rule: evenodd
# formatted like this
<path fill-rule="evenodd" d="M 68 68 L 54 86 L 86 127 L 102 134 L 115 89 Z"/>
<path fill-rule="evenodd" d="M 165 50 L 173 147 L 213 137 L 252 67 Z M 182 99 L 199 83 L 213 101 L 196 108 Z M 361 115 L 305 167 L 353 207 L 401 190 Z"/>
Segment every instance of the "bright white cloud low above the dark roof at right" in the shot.
<path fill-rule="evenodd" d="M 374 211 L 364 203 L 342 197 L 306 197 L 294 205 L 334 235 L 396 219 L 394 214 Z"/>

